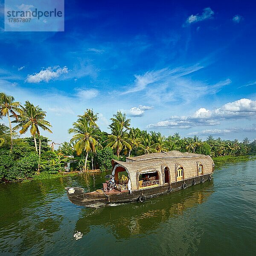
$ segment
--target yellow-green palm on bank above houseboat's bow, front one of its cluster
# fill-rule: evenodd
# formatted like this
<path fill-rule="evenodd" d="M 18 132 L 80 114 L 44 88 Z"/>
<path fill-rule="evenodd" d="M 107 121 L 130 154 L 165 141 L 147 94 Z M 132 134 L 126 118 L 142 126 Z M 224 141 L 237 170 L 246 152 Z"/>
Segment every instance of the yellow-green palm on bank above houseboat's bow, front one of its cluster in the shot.
<path fill-rule="evenodd" d="M 86 152 L 86 158 L 84 163 L 84 172 L 86 172 L 87 158 L 89 151 L 96 153 L 96 146 L 102 148 L 102 145 L 97 141 L 99 136 L 99 128 L 88 121 L 87 117 L 80 116 L 79 119 L 73 123 L 73 128 L 70 128 L 68 132 L 73 135 L 70 143 L 75 143 L 74 148 L 76 153 L 80 155 L 82 152 Z"/>

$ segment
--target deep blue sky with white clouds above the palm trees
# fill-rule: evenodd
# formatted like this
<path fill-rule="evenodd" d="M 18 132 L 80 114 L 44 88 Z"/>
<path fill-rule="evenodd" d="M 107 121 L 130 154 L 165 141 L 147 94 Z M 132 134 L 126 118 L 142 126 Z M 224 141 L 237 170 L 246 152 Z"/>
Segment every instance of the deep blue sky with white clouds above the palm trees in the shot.
<path fill-rule="evenodd" d="M 99 127 L 256 139 L 256 3 L 65 1 L 64 32 L 5 32 L 0 91 L 47 111 L 62 143 L 87 108 Z M 1 122 L 6 122 L 5 119 Z M 29 134 L 26 134 L 29 136 Z"/>

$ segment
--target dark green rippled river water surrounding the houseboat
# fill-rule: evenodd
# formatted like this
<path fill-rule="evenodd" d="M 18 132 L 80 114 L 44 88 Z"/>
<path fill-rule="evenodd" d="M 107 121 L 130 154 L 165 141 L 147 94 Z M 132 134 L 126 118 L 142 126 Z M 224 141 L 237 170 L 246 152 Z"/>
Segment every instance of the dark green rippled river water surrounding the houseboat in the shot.
<path fill-rule="evenodd" d="M 90 209 L 68 201 L 65 186 L 92 191 L 104 176 L 0 184 L 1 256 L 255 255 L 255 160 L 143 204 Z"/>

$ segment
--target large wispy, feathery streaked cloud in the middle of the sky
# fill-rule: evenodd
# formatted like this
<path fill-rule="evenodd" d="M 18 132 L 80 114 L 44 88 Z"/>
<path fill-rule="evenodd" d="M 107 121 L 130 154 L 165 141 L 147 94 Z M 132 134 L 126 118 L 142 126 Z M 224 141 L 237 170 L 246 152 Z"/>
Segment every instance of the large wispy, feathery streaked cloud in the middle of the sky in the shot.
<path fill-rule="evenodd" d="M 136 75 L 134 84 L 121 95 L 141 92 L 154 105 L 165 105 L 167 102 L 186 104 L 205 95 L 212 95 L 222 87 L 231 83 L 230 79 L 208 84 L 192 78 L 195 72 L 201 70 L 202 64 L 174 69 L 163 68 Z"/>

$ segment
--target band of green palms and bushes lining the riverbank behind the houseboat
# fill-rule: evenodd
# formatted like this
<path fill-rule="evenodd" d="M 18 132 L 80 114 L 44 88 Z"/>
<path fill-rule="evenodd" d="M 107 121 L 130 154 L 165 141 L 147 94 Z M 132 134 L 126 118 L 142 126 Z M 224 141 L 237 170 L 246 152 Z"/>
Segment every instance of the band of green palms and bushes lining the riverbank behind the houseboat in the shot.
<path fill-rule="evenodd" d="M 98 113 L 87 109 L 78 116 L 69 133 L 70 142 L 58 144 L 40 134 L 41 130 L 52 132 L 52 125 L 45 119 L 46 112 L 39 106 L 26 101 L 24 106 L 15 102 L 13 96 L 0 93 L 0 118 L 7 117 L 9 127 L 0 124 L 0 180 L 48 179 L 63 175 L 64 166 L 71 171 L 88 169 L 111 170 L 111 160 L 125 160 L 141 154 L 178 150 L 210 155 L 216 167 L 225 163 L 247 160 L 247 154 L 256 152 L 256 140 L 248 138 L 221 140 L 209 136 L 202 141 L 198 136 L 181 138 L 175 133 L 168 137 L 160 132 L 141 131 L 130 127 L 130 119 L 118 111 L 111 118 L 111 134 L 101 131 L 97 125 Z M 12 127 L 12 124 L 16 126 Z M 31 137 L 19 138 L 17 135 L 29 131 Z M 239 157 L 238 157 L 239 156 Z M 243 157 L 241 157 L 243 156 Z M 70 163 L 69 163 L 70 162 Z M 125 179 L 125 178 L 124 178 Z M 124 180 L 125 182 L 125 180 Z"/>

